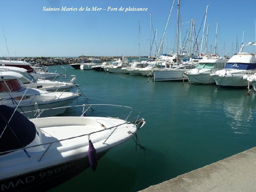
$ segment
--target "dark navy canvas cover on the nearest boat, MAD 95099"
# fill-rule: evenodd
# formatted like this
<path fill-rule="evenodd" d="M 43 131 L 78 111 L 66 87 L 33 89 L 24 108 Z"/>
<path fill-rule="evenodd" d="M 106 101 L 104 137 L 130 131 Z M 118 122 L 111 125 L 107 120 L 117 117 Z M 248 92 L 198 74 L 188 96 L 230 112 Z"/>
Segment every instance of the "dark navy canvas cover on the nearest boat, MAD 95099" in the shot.
<path fill-rule="evenodd" d="M 18 111 L 15 111 L 12 116 L 13 113 L 13 108 L 0 105 L 0 135 L 2 135 L 0 138 L 0 152 L 25 147 L 36 137 L 36 127 L 34 123 Z M 11 121 L 6 127 L 10 118 Z"/>

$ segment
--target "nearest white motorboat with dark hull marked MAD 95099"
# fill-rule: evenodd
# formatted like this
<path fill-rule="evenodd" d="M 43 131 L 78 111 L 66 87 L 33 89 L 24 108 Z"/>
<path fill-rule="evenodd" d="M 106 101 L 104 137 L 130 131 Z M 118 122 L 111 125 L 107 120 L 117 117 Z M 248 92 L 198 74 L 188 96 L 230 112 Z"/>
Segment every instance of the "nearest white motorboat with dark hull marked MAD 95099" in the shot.
<path fill-rule="evenodd" d="M 136 136 L 145 124 L 136 118 L 27 119 L 5 105 L 0 119 L 1 191 L 47 191 L 90 166 L 95 171 L 108 150 Z"/>

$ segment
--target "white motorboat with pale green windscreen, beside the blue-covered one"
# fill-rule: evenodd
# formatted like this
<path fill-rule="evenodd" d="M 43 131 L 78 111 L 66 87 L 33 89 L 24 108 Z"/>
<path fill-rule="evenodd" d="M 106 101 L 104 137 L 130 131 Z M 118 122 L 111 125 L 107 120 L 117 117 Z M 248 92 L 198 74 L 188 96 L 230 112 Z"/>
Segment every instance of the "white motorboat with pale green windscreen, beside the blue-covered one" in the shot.
<path fill-rule="evenodd" d="M 204 57 L 199 60 L 196 68 L 186 69 L 188 82 L 192 84 L 214 84 L 215 81 L 210 74 L 223 69 L 226 62 L 228 62 L 227 59 L 220 57 Z"/>

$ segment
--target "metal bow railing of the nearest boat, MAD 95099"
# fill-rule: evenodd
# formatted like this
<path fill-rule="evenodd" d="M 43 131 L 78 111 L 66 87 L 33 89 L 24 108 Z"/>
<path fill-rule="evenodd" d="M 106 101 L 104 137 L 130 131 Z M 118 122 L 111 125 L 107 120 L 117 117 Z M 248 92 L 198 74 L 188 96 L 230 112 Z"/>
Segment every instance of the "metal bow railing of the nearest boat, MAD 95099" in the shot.
<path fill-rule="evenodd" d="M 105 105 L 105 106 L 117 106 L 117 107 L 126 107 L 126 108 L 130 108 L 131 111 L 129 113 L 129 115 L 131 114 L 132 112 L 132 108 L 131 107 L 128 107 L 128 106 L 120 106 L 120 105 L 109 105 L 109 104 L 88 104 L 88 105 L 79 105 L 80 107 L 83 108 L 83 110 L 85 109 L 85 107 L 87 107 L 87 110 L 91 107 L 91 106 L 96 106 L 96 105 Z M 70 106 L 70 107 L 79 107 L 79 106 Z M 58 108 L 62 108 L 62 107 L 58 107 Z M 87 111 L 85 110 L 85 111 Z M 129 115 L 127 116 L 127 118 L 129 117 Z M 145 121 L 143 118 L 139 119 L 139 116 L 140 116 L 140 113 L 135 116 L 134 118 L 130 119 L 129 121 L 127 121 L 127 118 L 125 120 L 125 122 L 123 123 L 120 123 L 118 125 L 115 125 L 115 126 L 112 126 L 112 127 L 109 127 L 109 128 L 104 128 L 104 129 L 101 129 L 101 130 L 97 130 L 95 132 L 90 132 L 90 133 L 86 133 L 86 134 L 82 134 L 82 135 L 78 135 L 78 136 L 75 136 L 75 137 L 69 137 L 69 138 L 65 138 L 65 139 L 60 139 L 60 140 L 56 140 L 56 141 L 53 141 L 53 142 L 47 142 L 47 143 L 42 143 L 42 144 L 37 144 L 37 145 L 32 145 L 32 146 L 26 146 L 26 147 L 22 147 L 22 148 L 18 148 L 18 149 L 12 149 L 12 150 L 8 150 L 8 151 L 3 151 L 3 152 L 0 152 L 0 155 L 2 154 L 6 154 L 6 153 L 11 153 L 11 152 L 14 152 L 14 151 L 18 151 L 18 150 L 24 150 L 25 153 L 27 154 L 27 156 L 30 158 L 31 156 L 28 154 L 28 152 L 26 151 L 26 149 L 29 149 L 29 148 L 34 148 L 34 147 L 38 147 L 38 146 L 43 146 L 43 145 L 48 145 L 47 148 L 45 149 L 45 151 L 43 152 L 43 154 L 40 156 L 40 158 L 38 159 L 38 162 L 41 161 L 41 159 L 43 158 L 43 156 L 47 153 L 48 149 L 50 148 L 50 146 L 53 144 L 53 143 L 59 143 L 59 142 L 62 142 L 62 141 L 65 141 L 65 140 L 70 140 L 70 139 L 75 139 L 75 138 L 79 138 L 79 137 L 85 137 L 87 136 L 88 139 L 90 138 L 90 135 L 92 134 L 95 134 L 95 133 L 99 133 L 99 132 L 103 132 L 103 131 L 106 131 L 106 130 L 109 130 L 109 129 L 114 129 L 110 135 L 105 139 L 105 141 L 103 142 L 103 144 L 105 144 L 105 142 L 108 140 L 108 138 L 111 137 L 112 133 L 117 129 L 118 126 L 121 126 L 123 124 L 134 124 L 134 127 L 135 126 L 139 126 L 137 127 L 137 129 L 140 129 L 141 127 L 144 126 L 145 124 Z M 134 132 L 127 132 L 128 134 L 135 134 Z"/>

